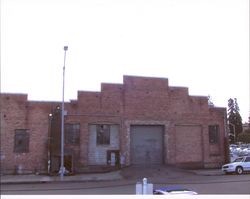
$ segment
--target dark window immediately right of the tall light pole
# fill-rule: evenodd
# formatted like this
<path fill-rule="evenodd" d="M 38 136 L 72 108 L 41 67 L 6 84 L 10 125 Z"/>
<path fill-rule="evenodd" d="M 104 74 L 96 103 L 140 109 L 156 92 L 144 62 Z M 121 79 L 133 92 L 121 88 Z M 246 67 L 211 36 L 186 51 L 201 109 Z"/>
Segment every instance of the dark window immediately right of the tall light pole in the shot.
<path fill-rule="evenodd" d="M 80 124 L 65 124 L 65 143 L 80 143 Z"/>

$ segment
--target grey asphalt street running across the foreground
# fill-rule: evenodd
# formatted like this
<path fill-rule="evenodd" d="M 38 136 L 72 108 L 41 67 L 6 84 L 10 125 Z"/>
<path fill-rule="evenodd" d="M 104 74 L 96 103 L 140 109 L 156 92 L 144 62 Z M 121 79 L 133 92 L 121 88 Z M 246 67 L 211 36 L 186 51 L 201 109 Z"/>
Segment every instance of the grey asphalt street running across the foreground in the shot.
<path fill-rule="evenodd" d="M 152 171 L 152 170 L 151 170 Z M 154 188 L 181 185 L 199 194 L 248 194 L 250 174 L 244 175 L 197 175 L 192 172 L 164 169 L 123 170 L 123 179 L 96 182 L 49 182 L 32 184 L 2 184 L 3 195 L 127 195 L 135 194 L 135 184 L 147 174 Z M 170 172 L 170 173 L 169 173 Z"/>

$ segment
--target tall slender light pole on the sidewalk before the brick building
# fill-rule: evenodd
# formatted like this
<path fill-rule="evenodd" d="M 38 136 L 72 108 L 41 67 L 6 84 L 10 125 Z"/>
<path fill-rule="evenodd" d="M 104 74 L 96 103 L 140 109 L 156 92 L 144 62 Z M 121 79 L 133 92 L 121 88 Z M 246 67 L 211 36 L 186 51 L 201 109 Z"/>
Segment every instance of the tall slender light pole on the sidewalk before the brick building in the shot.
<path fill-rule="evenodd" d="M 68 46 L 64 46 L 64 62 L 63 62 L 63 89 L 62 89 L 62 112 L 61 112 L 61 166 L 60 166 L 60 177 L 63 180 L 65 173 L 64 167 L 64 79 L 65 79 L 65 62 L 66 62 L 66 51 Z"/>

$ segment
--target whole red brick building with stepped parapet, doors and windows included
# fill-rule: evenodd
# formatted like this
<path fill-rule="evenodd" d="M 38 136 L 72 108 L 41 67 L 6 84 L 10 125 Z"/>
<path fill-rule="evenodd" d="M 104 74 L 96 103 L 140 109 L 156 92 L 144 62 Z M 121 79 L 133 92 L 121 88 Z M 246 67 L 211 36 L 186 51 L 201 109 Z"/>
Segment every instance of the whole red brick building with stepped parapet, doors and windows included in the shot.
<path fill-rule="evenodd" d="M 61 103 L 1 94 L 1 171 L 57 172 Z M 226 108 L 168 79 L 124 76 L 65 103 L 65 167 L 170 164 L 218 167 L 227 158 Z"/>

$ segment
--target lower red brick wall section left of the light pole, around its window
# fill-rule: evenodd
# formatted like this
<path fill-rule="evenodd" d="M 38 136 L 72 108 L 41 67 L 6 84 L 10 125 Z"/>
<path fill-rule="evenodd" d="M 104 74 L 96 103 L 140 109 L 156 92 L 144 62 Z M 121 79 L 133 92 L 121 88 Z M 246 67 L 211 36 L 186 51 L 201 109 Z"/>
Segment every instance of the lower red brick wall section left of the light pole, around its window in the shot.
<path fill-rule="evenodd" d="M 27 101 L 27 95 L 1 94 L 2 172 L 45 172 L 47 170 L 49 102 Z M 29 152 L 14 152 L 16 129 L 29 132 Z"/>

